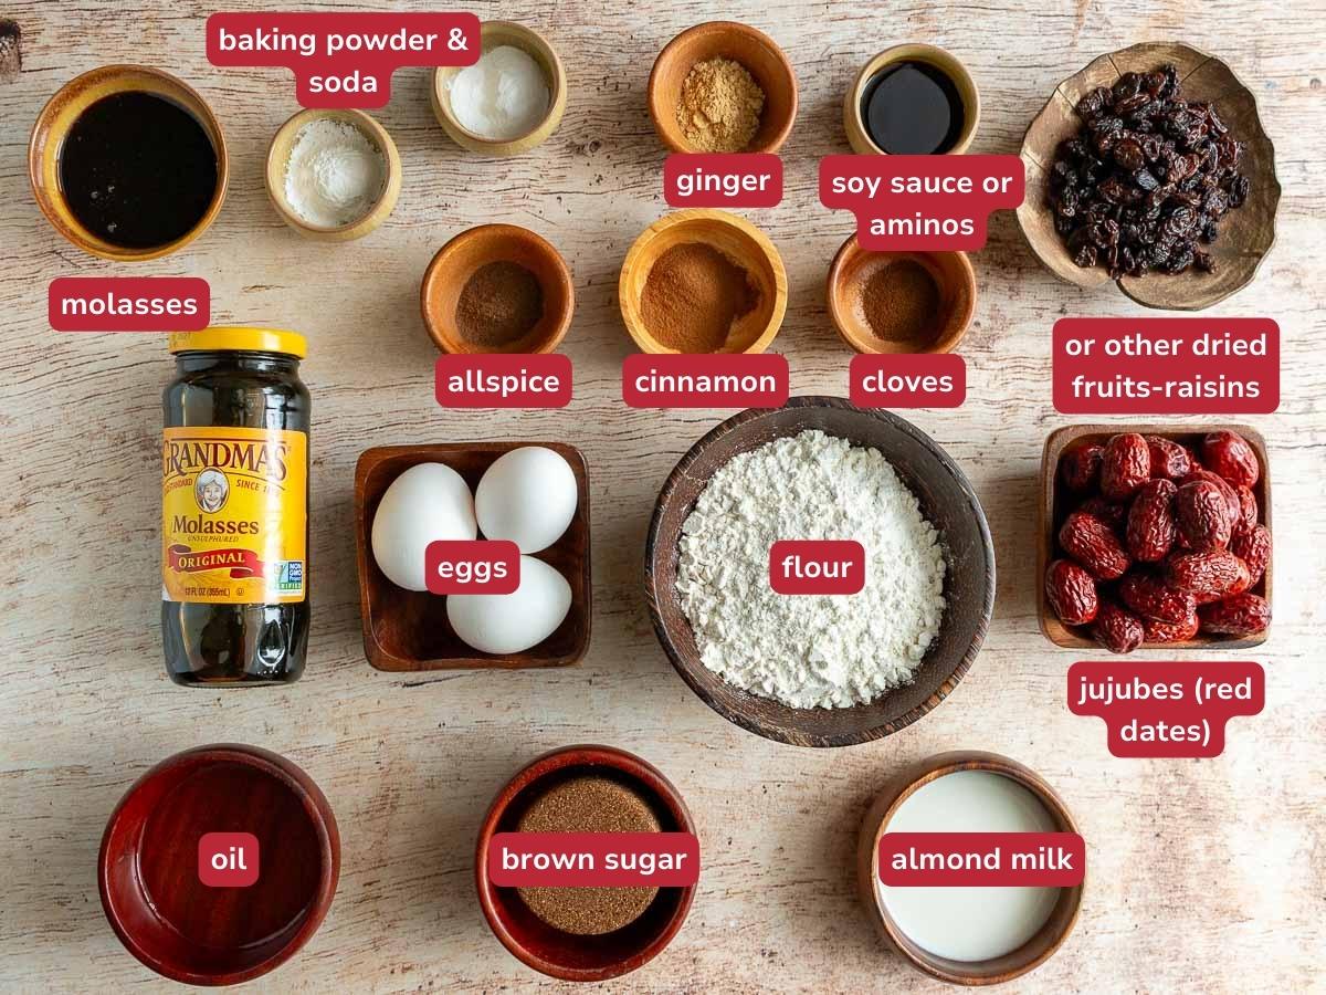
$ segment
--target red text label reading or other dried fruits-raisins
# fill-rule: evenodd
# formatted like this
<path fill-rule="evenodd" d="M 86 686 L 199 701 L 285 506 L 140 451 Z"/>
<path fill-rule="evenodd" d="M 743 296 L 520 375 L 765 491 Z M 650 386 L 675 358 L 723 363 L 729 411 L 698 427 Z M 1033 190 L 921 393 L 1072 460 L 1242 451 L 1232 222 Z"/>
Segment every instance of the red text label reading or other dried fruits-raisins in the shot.
<path fill-rule="evenodd" d="M 1059 318 L 1053 349 L 1062 414 L 1280 407 L 1280 326 L 1270 318 Z"/>

